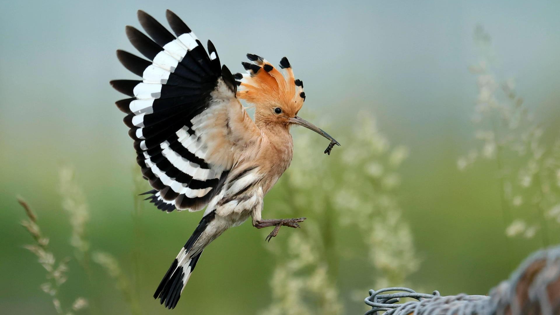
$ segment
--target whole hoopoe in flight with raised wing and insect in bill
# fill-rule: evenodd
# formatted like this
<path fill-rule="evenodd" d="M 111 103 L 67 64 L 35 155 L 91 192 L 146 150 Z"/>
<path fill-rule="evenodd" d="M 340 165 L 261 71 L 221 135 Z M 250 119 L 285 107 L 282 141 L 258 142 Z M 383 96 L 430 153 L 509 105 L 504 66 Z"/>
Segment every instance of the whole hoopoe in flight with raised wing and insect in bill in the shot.
<path fill-rule="evenodd" d="M 144 194 L 158 209 L 199 211 L 204 215 L 186 241 L 153 297 L 174 308 L 206 246 L 232 226 L 252 217 L 258 229 L 299 228 L 296 219 L 263 219 L 263 197 L 292 160 L 292 125 L 333 137 L 297 116 L 305 101 L 304 84 L 290 62 L 279 67 L 254 54 L 241 64 L 246 75 L 221 66 L 216 48 L 208 53 L 175 13 L 167 10 L 175 35 L 152 16 L 138 11 L 148 36 L 126 27 L 130 42 L 149 60 L 117 50 L 119 61 L 142 80 L 114 80 L 130 96 L 116 101 L 127 116 L 137 162 L 153 188 Z M 255 107 L 254 121 L 240 103 Z"/>

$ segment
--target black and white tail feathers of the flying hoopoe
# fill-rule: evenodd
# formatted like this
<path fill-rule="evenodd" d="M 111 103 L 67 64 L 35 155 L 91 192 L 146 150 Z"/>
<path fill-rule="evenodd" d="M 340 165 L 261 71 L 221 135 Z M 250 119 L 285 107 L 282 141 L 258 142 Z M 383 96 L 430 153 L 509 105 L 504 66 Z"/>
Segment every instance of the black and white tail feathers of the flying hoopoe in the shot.
<path fill-rule="evenodd" d="M 153 298 L 160 299 L 160 303 L 165 303 L 166 308 L 175 308 L 177 302 L 179 302 L 181 293 L 185 288 L 186 282 L 189 281 L 190 274 L 197 265 L 200 254 L 202 254 L 204 247 L 209 243 L 203 241 L 206 244 L 199 244 L 197 241 L 208 227 L 208 224 L 214 220 L 214 217 L 216 217 L 215 210 L 200 220 L 193 235 L 190 235 L 189 240 L 186 241 L 177 258 L 171 263 L 171 267 L 169 267 L 164 279 L 161 280 L 160 285 L 153 294 Z"/>

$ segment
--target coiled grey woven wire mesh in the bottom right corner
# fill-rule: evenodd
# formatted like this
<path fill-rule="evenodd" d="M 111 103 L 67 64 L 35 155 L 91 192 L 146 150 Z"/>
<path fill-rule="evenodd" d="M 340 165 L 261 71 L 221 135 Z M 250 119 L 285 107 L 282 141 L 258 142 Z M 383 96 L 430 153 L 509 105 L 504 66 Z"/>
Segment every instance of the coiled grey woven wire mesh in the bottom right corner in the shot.
<path fill-rule="evenodd" d="M 370 290 L 365 302 L 371 306 L 365 315 L 558 315 L 560 246 L 532 254 L 489 295 L 442 297 L 438 291 L 426 294 L 395 287 Z"/>

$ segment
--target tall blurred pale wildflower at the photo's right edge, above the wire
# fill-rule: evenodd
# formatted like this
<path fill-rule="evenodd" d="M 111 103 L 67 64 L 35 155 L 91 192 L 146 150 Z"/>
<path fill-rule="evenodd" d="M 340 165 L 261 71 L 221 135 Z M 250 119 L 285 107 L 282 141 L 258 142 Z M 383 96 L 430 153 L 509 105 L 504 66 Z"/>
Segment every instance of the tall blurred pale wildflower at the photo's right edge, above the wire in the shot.
<path fill-rule="evenodd" d="M 553 189 L 555 183 L 557 187 L 560 184 L 560 174 L 556 173 L 560 165 L 560 142 L 558 154 L 543 145 L 545 128 L 534 122 L 524 99 L 517 95 L 515 78 L 508 77 L 498 83 L 501 80 L 494 73 L 500 71 L 494 69 L 496 55 L 492 40 L 482 26 L 475 28 L 473 38 L 482 61 L 469 67 L 469 71 L 477 76 L 478 86 L 474 138 L 479 145 L 471 152 L 480 152 L 483 158 L 496 162 L 494 178 L 500 184 L 499 198 L 506 235 L 532 238 L 540 231 L 543 244 L 548 245 L 544 209 L 560 202 L 560 194 Z M 465 170 L 476 159 L 477 154 L 462 156 L 457 160 L 457 167 Z"/>

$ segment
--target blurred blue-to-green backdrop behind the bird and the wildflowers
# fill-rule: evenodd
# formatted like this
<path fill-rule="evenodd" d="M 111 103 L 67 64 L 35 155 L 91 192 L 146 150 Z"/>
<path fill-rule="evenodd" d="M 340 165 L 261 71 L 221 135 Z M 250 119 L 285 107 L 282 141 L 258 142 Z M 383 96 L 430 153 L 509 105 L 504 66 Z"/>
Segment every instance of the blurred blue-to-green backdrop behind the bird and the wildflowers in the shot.
<path fill-rule="evenodd" d="M 351 139 L 348 126 L 361 112 L 376 119 L 393 145 L 408 147 L 395 196 L 421 265 L 407 284 L 446 295 L 485 294 L 528 253 L 542 247 L 537 233 L 530 239 L 510 239 L 505 254 L 495 161 L 482 160 L 459 172 L 457 159 L 477 145 L 470 117 L 478 90 L 468 67 L 480 59 L 473 43 L 478 24 L 491 34 L 499 56 L 494 74 L 503 80 L 516 78 L 517 93 L 535 120 L 547 127 L 545 143 L 558 136 L 558 1 L 2 1 L 2 313 L 55 314 L 50 297 L 39 288 L 45 272 L 22 248 L 32 239 L 18 224 L 24 212 L 15 196 L 34 207 L 57 257 L 71 256 L 71 227 L 58 192 L 61 165 L 74 166 L 87 196 L 92 249 L 114 254 L 129 277 L 135 274 L 131 261 L 136 259 L 141 276 L 133 283 L 143 312 L 165 313 L 151 298 L 152 291 L 201 214 L 162 214 L 146 203 L 133 217 L 138 170 L 123 114 L 113 105 L 123 95 L 108 82 L 134 77 L 119 64 L 115 49 L 135 52 L 124 26 L 139 27 L 136 10 L 163 22 L 167 8 L 202 41 L 212 39 L 222 63 L 234 72 L 242 70 L 246 53 L 273 63 L 286 55 L 296 77 L 305 82 L 306 112 L 314 117 L 310 120 L 330 126 L 325 129 L 331 135 Z M 333 155 L 343 150 L 336 147 Z M 314 153 L 296 151 L 292 165 L 332 158 L 320 150 Z M 340 164 L 332 174 L 317 176 L 328 179 L 343 174 L 344 168 Z M 279 198 L 275 189 L 265 198 L 265 217 L 282 215 L 275 205 Z M 550 243 L 558 243 L 559 225 L 549 220 Z M 135 222 L 140 234 L 133 231 Z M 337 248 L 354 244 L 358 253 L 334 252 L 343 313 L 360 314 L 363 302 L 351 295 L 373 288 L 375 270 L 361 259 L 359 253 L 366 255 L 366 248 L 352 242 L 355 235 L 348 228 L 337 225 L 335 231 Z M 266 308 L 277 256 L 264 249 L 263 233 L 245 223 L 212 243 L 175 312 L 248 314 Z M 299 230 L 284 230 L 272 242 L 288 233 Z M 137 258 L 133 248 L 140 249 Z M 94 272 L 88 280 L 80 266 L 70 262 L 68 282 L 60 292 L 63 302 L 81 295 L 96 304 L 96 313 L 129 312 L 114 281 L 100 268 Z"/>

